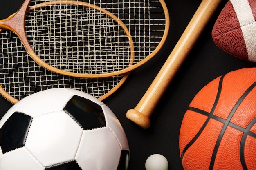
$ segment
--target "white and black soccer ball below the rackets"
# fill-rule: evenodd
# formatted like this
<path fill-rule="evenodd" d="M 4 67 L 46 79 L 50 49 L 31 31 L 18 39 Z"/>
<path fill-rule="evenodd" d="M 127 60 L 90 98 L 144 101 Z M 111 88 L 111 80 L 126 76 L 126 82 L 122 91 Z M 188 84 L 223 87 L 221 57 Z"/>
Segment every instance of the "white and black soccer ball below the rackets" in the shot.
<path fill-rule="evenodd" d="M 127 170 L 128 162 L 117 117 L 81 91 L 34 93 L 0 121 L 0 170 Z"/>

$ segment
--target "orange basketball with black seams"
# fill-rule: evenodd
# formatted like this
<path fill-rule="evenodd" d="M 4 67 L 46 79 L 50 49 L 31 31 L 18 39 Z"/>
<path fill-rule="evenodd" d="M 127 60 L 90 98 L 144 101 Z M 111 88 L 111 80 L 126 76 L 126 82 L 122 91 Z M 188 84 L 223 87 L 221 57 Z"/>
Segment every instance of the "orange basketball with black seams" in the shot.
<path fill-rule="evenodd" d="M 184 170 L 256 169 L 256 68 L 231 71 L 195 95 L 179 146 Z"/>

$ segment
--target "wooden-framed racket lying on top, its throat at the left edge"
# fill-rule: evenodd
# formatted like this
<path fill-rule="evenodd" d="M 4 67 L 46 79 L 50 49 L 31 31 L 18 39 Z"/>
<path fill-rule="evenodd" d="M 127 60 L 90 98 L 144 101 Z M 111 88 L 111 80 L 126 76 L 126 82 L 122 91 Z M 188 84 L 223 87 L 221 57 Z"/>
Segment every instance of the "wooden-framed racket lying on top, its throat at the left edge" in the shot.
<path fill-rule="evenodd" d="M 0 20 L 39 65 L 63 75 L 121 75 L 152 58 L 166 40 L 163 0 L 25 0 Z"/>

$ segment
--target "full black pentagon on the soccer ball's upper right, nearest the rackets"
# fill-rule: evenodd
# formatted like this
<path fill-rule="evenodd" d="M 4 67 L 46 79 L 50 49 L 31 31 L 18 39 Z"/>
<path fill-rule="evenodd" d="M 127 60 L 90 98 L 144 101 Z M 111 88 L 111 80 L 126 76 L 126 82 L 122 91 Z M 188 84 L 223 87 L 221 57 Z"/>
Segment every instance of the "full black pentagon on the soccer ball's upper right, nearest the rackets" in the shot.
<path fill-rule="evenodd" d="M 101 106 L 80 96 L 74 95 L 64 108 L 83 130 L 106 126 Z"/>

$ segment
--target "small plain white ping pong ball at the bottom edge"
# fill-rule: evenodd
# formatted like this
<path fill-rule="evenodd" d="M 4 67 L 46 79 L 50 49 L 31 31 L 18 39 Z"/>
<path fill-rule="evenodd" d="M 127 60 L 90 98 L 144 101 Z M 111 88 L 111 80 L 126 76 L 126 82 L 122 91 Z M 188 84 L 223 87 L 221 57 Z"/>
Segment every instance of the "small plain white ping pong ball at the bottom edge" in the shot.
<path fill-rule="evenodd" d="M 168 170 L 168 161 L 161 154 L 153 154 L 146 160 L 146 170 Z"/>

